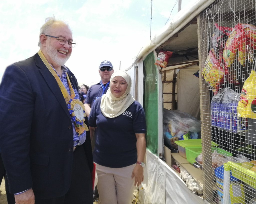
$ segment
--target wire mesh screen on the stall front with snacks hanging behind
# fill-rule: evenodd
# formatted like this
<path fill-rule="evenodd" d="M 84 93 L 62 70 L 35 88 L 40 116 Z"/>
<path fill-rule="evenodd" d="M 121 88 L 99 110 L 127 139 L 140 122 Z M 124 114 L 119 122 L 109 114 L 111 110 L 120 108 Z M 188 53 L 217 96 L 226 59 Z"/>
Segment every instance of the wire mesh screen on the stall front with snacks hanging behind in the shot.
<path fill-rule="evenodd" d="M 256 203 L 255 0 L 215 1 L 197 22 L 204 199 Z"/>

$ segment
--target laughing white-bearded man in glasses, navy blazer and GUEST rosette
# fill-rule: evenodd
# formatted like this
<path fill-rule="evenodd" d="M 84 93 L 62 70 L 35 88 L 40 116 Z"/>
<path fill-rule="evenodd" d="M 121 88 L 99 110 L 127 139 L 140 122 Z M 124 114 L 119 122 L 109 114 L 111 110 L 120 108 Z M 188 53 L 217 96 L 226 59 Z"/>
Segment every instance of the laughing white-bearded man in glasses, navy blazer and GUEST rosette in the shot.
<path fill-rule="evenodd" d="M 38 53 L 4 72 L 0 149 L 16 204 L 93 203 L 89 130 L 76 77 L 64 65 L 75 45 L 65 21 L 47 18 Z"/>

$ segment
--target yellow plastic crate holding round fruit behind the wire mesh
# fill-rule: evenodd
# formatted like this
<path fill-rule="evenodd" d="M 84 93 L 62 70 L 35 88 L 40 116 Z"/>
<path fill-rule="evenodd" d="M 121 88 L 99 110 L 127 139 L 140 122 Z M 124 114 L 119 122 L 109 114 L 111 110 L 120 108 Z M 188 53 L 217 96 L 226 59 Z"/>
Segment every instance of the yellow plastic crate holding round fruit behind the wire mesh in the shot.
<path fill-rule="evenodd" d="M 241 163 L 228 162 L 232 176 L 240 179 L 244 183 L 256 188 L 256 172 L 242 167 Z"/>

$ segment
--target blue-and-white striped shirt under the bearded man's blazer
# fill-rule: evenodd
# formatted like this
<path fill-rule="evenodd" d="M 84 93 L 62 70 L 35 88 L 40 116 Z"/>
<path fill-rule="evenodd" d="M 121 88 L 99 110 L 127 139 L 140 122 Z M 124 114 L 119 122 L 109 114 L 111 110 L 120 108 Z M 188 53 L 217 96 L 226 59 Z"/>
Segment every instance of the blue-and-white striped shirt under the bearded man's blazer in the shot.
<path fill-rule="evenodd" d="M 52 68 L 53 68 L 53 67 L 52 67 Z M 53 68 L 53 69 L 54 69 L 54 68 Z M 68 69 L 67 69 L 67 67 L 66 67 L 65 65 L 62 65 L 62 66 L 61 66 L 61 70 L 62 70 L 62 80 L 61 80 L 61 78 L 60 78 L 60 80 L 61 80 L 61 82 L 63 83 L 63 85 L 65 86 L 67 92 L 68 92 L 69 95 L 70 95 L 70 90 L 69 90 L 68 80 L 67 80 L 67 75 L 66 75 L 66 72 L 68 71 Z M 54 71 L 56 72 L 55 69 L 54 69 Z M 57 74 L 57 72 L 56 72 L 56 74 Z M 57 74 L 57 75 L 58 75 L 58 74 Z M 59 75 L 58 75 L 58 76 L 59 76 Z M 60 76 L 59 76 L 59 77 L 60 77 Z M 73 90 L 74 90 L 74 93 L 75 93 L 76 97 L 77 97 L 78 99 L 80 99 L 80 94 L 78 93 L 77 89 L 75 89 L 75 88 L 73 87 Z M 80 135 L 78 136 L 78 132 L 77 132 L 76 129 L 75 129 L 75 124 L 74 124 L 73 120 L 71 119 L 71 117 L 70 117 L 70 120 L 72 121 L 72 127 L 73 127 L 74 147 L 75 147 L 75 146 L 79 146 L 79 145 L 83 144 L 84 141 L 86 140 L 86 131 L 84 131 L 82 134 L 80 134 Z"/>

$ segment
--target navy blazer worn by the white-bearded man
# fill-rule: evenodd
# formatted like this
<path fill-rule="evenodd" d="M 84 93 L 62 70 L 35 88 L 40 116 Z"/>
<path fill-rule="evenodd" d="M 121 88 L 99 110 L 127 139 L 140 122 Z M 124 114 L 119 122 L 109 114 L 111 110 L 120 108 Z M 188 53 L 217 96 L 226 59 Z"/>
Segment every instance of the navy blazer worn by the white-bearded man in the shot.
<path fill-rule="evenodd" d="M 69 69 L 68 75 L 77 89 Z M 71 183 L 72 123 L 61 90 L 37 53 L 6 68 L 0 116 L 0 149 L 9 192 L 32 187 L 38 198 L 65 195 Z M 92 171 L 89 131 L 83 146 Z"/>

